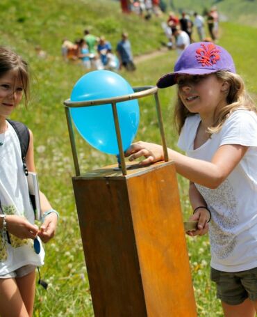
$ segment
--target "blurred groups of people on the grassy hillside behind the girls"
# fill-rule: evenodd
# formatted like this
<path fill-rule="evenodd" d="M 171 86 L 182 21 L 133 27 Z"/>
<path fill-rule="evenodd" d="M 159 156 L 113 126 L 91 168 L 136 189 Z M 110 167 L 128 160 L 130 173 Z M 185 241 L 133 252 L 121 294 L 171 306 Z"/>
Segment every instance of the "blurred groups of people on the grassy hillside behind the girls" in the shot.
<path fill-rule="evenodd" d="M 160 16 L 160 1 L 131 0 L 131 11 L 142 15 L 149 20 L 152 15 Z M 161 23 L 167 37 L 168 49 L 176 49 L 178 55 L 192 42 L 213 41 L 216 42 L 219 30 L 219 15 L 217 8 L 210 8 L 206 14 L 197 12 L 189 15 L 181 13 L 181 17 L 170 12 L 167 20 Z M 209 36 L 206 36 L 208 31 Z M 85 29 L 81 38 L 74 42 L 64 38 L 62 41 L 62 56 L 65 61 L 76 61 L 84 65 L 86 70 L 113 70 L 125 68 L 128 71 L 135 70 L 131 42 L 128 33 L 123 32 L 121 39 L 115 48 L 106 40 L 105 36 L 95 36 Z"/>

